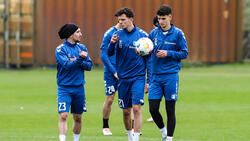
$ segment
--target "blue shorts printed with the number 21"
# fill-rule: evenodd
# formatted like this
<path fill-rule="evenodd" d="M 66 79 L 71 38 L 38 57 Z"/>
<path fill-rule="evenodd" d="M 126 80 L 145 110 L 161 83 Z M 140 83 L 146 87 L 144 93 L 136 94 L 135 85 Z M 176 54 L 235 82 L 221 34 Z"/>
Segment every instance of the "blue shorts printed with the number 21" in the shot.
<path fill-rule="evenodd" d="M 118 104 L 127 109 L 132 105 L 144 105 L 145 76 L 136 76 L 129 79 L 119 79 Z"/>

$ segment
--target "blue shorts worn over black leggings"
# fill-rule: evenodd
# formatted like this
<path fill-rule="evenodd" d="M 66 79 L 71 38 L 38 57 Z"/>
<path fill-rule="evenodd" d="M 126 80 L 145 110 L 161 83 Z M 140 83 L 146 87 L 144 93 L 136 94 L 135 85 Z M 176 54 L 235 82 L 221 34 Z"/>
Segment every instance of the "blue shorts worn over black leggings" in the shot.
<path fill-rule="evenodd" d="M 161 74 L 152 75 L 152 81 L 149 85 L 148 99 L 162 99 L 165 97 L 166 101 L 177 101 L 179 90 L 179 75 Z"/>

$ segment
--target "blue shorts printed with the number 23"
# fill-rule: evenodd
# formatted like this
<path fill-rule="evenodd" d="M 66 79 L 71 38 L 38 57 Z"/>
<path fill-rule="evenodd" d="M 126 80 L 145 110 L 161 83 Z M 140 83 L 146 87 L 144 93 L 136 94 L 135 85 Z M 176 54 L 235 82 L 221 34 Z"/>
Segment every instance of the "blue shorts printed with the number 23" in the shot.
<path fill-rule="evenodd" d="M 57 87 L 58 113 L 69 112 L 82 114 L 86 111 L 84 86 L 58 86 Z"/>

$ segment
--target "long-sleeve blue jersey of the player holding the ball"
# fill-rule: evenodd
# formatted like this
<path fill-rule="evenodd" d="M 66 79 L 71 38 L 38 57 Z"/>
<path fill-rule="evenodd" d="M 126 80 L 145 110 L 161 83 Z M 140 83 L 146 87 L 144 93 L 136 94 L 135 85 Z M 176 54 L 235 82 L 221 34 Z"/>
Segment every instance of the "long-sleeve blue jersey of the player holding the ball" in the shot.
<path fill-rule="evenodd" d="M 143 76 L 147 68 L 147 78 L 150 78 L 150 56 L 142 57 L 135 53 L 135 42 L 142 37 L 147 37 L 147 33 L 135 26 L 130 32 L 123 29 L 114 34 L 119 36 L 119 39 L 116 44 L 109 44 L 108 55 L 116 53 L 116 70 L 118 77 L 132 78 L 135 76 Z"/>

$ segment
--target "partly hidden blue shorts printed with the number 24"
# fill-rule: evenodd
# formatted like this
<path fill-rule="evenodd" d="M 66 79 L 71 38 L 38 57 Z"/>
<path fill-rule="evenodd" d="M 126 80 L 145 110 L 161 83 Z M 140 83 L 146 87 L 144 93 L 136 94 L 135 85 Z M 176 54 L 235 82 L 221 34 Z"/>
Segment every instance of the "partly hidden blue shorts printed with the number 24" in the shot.
<path fill-rule="evenodd" d="M 112 73 L 104 73 L 104 85 L 106 95 L 113 95 L 117 91 L 118 80 Z"/>

